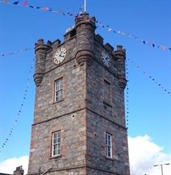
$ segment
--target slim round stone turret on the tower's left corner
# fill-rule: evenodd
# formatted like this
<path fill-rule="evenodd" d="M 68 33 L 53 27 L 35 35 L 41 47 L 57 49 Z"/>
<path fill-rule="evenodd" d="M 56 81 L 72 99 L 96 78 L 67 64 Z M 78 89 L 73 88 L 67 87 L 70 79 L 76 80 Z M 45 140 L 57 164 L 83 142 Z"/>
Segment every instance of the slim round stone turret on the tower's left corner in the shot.
<path fill-rule="evenodd" d="M 45 73 L 45 62 L 46 62 L 46 54 L 52 49 L 52 43 L 50 41 L 47 44 L 44 43 L 43 39 L 39 39 L 37 43 L 35 43 L 35 73 L 34 73 L 34 81 L 36 86 L 39 86 L 42 82 L 44 73 Z"/>

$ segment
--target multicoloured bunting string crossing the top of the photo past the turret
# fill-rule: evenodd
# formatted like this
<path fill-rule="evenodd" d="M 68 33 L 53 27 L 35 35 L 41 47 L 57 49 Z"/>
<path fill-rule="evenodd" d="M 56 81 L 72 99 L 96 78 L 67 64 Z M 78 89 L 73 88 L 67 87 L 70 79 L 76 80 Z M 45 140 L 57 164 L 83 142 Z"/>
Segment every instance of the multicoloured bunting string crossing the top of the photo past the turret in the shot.
<path fill-rule="evenodd" d="M 46 7 L 46 6 L 41 7 L 41 6 L 28 5 L 27 0 L 24 0 L 23 3 L 20 3 L 20 1 L 14 1 L 13 3 L 10 3 L 8 0 L 1 0 L 0 3 L 1 4 L 9 4 L 9 5 L 19 5 L 19 6 L 22 6 L 22 7 L 28 7 L 28 8 L 38 9 L 38 10 L 43 10 L 43 11 L 49 11 L 49 12 L 53 12 L 53 13 L 60 14 L 60 15 L 63 15 L 63 16 L 70 16 L 70 17 L 79 17 L 79 14 L 80 14 L 80 12 L 79 12 L 79 14 L 74 15 L 71 12 L 64 12 L 63 10 L 57 11 L 57 10 L 53 10 L 53 8 L 51 8 L 51 7 Z M 82 9 L 80 8 L 80 10 L 82 10 Z M 132 34 L 129 34 L 129 33 L 126 33 L 126 32 L 120 31 L 120 30 L 114 30 L 109 25 L 104 25 L 99 20 L 96 20 L 95 23 L 97 24 L 97 26 L 100 26 L 100 27 L 106 29 L 108 32 L 112 32 L 114 34 L 120 34 L 120 35 L 123 35 L 123 36 L 127 36 L 129 38 L 133 38 L 133 39 L 135 39 L 135 40 L 137 40 L 137 41 L 139 41 L 143 44 L 148 44 L 148 45 L 152 46 L 153 48 L 160 48 L 163 51 L 165 51 L 165 50 L 171 51 L 171 47 L 166 47 L 166 46 L 161 45 L 161 44 L 156 44 L 154 42 L 141 39 L 137 36 L 134 36 Z"/>

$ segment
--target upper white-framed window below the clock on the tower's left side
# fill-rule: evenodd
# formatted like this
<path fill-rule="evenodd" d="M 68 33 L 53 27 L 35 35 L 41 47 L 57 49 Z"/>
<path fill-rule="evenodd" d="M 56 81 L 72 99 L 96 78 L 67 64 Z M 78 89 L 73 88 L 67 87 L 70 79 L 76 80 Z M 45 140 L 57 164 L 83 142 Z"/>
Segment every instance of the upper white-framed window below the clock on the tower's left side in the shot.
<path fill-rule="evenodd" d="M 63 78 L 55 81 L 55 102 L 62 100 L 63 96 Z"/>

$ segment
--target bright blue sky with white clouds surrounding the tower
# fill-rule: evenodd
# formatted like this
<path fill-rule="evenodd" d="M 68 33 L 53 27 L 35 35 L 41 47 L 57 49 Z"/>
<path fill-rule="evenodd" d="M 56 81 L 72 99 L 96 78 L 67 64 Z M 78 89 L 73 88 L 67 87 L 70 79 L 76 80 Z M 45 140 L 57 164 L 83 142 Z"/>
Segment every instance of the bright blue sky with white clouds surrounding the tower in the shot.
<path fill-rule="evenodd" d="M 68 14 L 78 14 L 83 0 L 27 0 L 24 7 L 24 0 L 14 2 L 0 0 L 0 172 L 23 165 L 27 173 L 34 44 L 40 38 L 63 41 L 74 24 Z M 131 175 L 160 175 L 153 165 L 171 163 L 171 0 L 87 0 L 86 10 L 96 17 L 104 43 L 126 49 Z M 163 165 L 163 173 L 170 175 L 171 165 Z"/>

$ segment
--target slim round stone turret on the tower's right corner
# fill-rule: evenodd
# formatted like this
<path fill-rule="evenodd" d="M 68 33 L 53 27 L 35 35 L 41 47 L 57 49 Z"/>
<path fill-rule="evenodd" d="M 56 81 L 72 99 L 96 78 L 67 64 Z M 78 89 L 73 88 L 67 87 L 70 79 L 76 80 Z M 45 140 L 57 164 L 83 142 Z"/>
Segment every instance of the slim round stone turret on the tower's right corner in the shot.
<path fill-rule="evenodd" d="M 122 90 L 126 87 L 126 75 L 125 75 L 125 59 L 126 59 L 126 50 L 122 46 L 118 45 L 117 50 L 113 52 L 114 57 L 117 61 L 117 75 L 119 80 L 119 86 Z"/>

